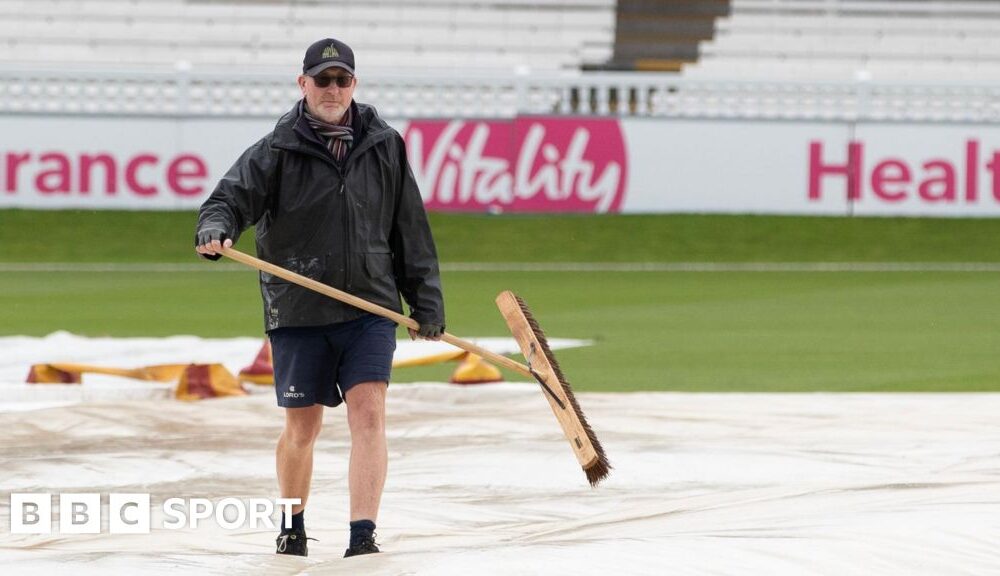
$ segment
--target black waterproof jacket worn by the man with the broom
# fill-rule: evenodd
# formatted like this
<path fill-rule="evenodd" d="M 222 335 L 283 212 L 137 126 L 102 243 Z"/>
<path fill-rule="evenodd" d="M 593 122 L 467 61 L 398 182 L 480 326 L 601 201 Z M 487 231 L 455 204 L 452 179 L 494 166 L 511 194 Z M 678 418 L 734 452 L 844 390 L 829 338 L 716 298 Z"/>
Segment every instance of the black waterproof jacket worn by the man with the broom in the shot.
<path fill-rule="evenodd" d="M 256 224 L 260 258 L 402 313 L 444 325 L 437 253 L 403 139 L 371 106 L 354 107 L 354 143 L 339 165 L 299 102 L 251 146 L 201 206 L 198 229 L 235 243 Z M 320 326 L 364 314 L 260 274 L 265 329 Z"/>

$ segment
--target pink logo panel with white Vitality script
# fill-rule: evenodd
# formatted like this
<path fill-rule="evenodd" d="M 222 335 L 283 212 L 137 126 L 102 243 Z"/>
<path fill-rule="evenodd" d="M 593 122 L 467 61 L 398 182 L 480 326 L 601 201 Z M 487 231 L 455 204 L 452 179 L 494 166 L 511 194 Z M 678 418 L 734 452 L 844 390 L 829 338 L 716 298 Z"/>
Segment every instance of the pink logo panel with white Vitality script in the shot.
<path fill-rule="evenodd" d="M 618 212 L 625 196 L 615 119 L 414 121 L 404 138 L 432 210 Z"/>

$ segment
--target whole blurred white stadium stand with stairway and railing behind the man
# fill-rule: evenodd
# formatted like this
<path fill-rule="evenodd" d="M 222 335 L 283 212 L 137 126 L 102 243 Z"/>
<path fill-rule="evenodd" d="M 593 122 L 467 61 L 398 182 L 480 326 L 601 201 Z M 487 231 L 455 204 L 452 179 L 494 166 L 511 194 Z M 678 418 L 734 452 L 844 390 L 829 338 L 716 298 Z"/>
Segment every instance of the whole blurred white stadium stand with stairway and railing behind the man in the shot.
<path fill-rule="evenodd" d="M 997 122 L 998 26 L 992 0 L 0 0 L 0 113 L 273 117 L 334 35 L 389 117 Z"/>

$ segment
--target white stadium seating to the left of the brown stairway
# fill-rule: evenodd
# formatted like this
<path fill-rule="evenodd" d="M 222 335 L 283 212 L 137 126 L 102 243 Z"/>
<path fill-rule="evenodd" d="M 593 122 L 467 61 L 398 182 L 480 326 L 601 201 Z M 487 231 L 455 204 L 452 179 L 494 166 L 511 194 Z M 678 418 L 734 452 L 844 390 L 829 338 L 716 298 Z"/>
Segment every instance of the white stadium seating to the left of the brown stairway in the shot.
<path fill-rule="evenodd" d="M 359 69 L 580 69 L 610 58 L 614 0 L 0 0 L 0 64 L 287 70 L 335 36 Z"/>

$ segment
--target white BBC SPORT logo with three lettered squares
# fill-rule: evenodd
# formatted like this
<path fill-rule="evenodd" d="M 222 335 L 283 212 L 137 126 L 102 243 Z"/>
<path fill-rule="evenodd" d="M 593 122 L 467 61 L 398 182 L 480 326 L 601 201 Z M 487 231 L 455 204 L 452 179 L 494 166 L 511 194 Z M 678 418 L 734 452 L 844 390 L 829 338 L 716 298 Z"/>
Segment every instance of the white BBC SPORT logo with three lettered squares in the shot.
<path fill-rule="evenodd" d="M 10 531 L 12 534 L 49 534 L 53 515 L 51 493 L 12 493 L 10 495 Z M 103 509 L 101 494 L 58 494 L 60 534 L 100 534 Z M 214 520 L 226 530 L 242 528 L 276 530 L 272 520 L 275 510 L 285 515 L 291 527 L 292 506 L 299 498 L 167 498 L 159 507 L 162 518 L 154 526 L 149 494 L 108 494 L 107 530 L 111 534 L 149 534 L 153 528 L 164 530 L 195 529 L 204 520 Z"/>

